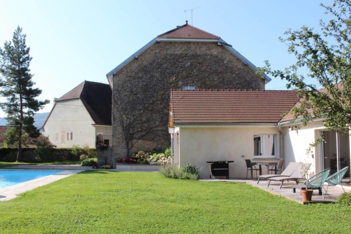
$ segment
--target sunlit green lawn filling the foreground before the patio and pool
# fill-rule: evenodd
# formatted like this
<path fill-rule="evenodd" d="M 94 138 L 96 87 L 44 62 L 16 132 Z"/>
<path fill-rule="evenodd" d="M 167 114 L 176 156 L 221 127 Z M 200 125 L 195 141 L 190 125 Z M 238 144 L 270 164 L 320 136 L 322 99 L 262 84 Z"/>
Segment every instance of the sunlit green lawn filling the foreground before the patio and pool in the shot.
<path fill-rule="evenodd" d="M 86 171 L 0 202 L 0 217 L 6 233 L 351 232 L 351 208 L 152 172 Z"/>

